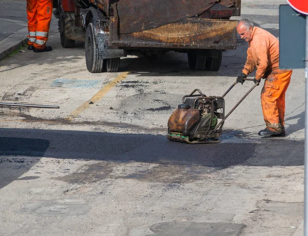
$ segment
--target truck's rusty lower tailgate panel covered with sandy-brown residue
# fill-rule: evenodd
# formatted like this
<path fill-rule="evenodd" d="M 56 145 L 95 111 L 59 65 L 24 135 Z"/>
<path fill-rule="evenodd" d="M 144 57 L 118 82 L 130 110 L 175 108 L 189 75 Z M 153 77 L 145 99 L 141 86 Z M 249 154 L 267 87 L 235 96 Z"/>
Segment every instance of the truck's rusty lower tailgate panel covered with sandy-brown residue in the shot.
<path fill-rule="evenodd" d="M 110 22 L 111 23 L 111 22 Z M 186 19 L 136 33 L 117 34 L 110 24 L 109 45 L 115 47 L 235 49 L 236 24 L 232 20 Z"/>

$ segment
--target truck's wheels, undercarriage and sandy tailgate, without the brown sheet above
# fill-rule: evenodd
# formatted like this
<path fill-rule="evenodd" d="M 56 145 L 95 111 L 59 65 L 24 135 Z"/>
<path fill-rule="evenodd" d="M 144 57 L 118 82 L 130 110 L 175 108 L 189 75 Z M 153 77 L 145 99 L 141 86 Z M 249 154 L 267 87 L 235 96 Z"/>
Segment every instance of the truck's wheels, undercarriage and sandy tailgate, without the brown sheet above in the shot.
<path fill-rule="evenodd" d="M 93 73 L 118 71 L 120 58 L 127 52 L 141 51 L 155 59 L 171 50 L 187 53 L 193 70 L 217 71 L 222 50 L 236 49 L 237 21 L 229 17 L 240 15 L 241 0 L 234 0 L 232 7 L 216 3 L 187 19 L 129 33 L 120 32 L 119 17 L 110 0 L 54 2 L 62 46 L 69 48 L 75 40 L 84 41 L 87 69 Z"/>

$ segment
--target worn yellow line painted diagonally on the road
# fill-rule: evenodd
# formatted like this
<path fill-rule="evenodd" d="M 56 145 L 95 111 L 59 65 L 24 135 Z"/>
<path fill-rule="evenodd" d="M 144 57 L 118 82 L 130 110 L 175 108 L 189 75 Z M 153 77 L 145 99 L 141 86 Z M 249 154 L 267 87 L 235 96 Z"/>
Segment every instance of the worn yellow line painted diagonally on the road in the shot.
<path fill-rule="evenodd" d="M 117 78 L 115 78 L 114 80 L 106 84 L 104 87 L 102 87 L 101 90 L 99 90 L 99 92 L 95 94 L 90 100 L 86 101 L 81 106 L 76 108 L 75 111 L 73 111 L 71 114 L 69 114 L 64 119 L 72 120 L 76 116 L 79 116 L 82 112 L 84 112 L 91 106 L 91 104 L 89 104 L 90 102 L 94 103 L 94 102 L 101 100 L 111 90 L 111 88 L 115 87 L 115 85 L 117 85 L 119 82 L 124 80 L 127 76 L 128 76 L 128 72 L 122 72 Z"/>

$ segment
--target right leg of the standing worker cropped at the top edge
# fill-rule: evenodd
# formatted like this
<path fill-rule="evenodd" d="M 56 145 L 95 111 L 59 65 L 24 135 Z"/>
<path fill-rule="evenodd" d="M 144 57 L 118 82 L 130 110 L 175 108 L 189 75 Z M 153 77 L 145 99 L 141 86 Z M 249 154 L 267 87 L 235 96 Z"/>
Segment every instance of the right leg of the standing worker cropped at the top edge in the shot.
<path fill-rule="evenodd" d="M 36 25 L 36 39 L 34 42 L 34 51 L 51 51 L 51 47 L 46 47 L 48 40 L 49 26 L 52 16 L 52 0 L 37 0 L 37 25 Z"/>

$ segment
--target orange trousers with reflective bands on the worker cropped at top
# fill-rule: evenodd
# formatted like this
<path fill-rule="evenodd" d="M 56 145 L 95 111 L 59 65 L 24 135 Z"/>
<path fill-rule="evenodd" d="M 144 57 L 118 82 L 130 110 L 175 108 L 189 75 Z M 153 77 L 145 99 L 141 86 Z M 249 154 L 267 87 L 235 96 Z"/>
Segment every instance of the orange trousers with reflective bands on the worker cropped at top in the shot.
<path fill-rule="evenodd" d="M 46 47 L 52 15 L 52 0 L 27 0 L 28 44 Z"/>

